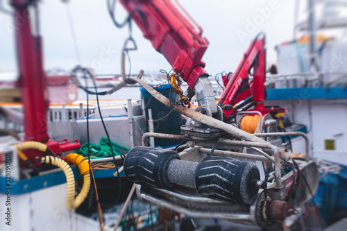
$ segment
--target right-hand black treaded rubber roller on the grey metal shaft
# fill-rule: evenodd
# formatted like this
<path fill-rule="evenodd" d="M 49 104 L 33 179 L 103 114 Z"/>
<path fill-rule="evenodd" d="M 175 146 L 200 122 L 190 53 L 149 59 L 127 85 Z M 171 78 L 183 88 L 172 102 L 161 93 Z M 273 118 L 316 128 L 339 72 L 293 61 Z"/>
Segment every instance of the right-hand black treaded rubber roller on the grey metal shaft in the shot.
<path fill-rule="evenodd" d="M 260 173 L 253 162 L 210 156 L 196 166 L 194 178 L 201 196 L 251 204 L 257 196 L 254 182 L 260 180 Z"/>

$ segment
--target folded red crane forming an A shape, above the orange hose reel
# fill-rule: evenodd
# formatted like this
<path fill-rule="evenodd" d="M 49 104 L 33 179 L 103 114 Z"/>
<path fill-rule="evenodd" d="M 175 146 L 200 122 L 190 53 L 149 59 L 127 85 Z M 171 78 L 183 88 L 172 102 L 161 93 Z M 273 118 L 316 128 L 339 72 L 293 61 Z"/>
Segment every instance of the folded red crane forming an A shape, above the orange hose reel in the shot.
<path fill-rule="evenodd" d="M 253 68 L 253 83 L 249 83 L 249 71 Z M 223 76 L 225 82 L 227 76 Z M 269 111 L 264 108 L 264 80 L 265 80 L 265 49 L 264 39 L 251 42 L 244 58 L 228 81 L 218 105 L 223 108 L 226 105 L 236 105 L 240 101 L 253 96 L 255 106 L 252 110 L 257 110 L 266 114 Z M 225 118 L 228 119 L 234 110 L 223 110 Z"/>

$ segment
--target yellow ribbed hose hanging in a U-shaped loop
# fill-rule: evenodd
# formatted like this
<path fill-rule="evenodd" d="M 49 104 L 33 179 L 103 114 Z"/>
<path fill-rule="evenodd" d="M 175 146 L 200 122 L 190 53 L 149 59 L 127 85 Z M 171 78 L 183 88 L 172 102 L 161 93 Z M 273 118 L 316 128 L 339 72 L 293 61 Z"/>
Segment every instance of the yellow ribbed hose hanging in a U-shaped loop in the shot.
<path fill-rule="evenodd" d="M 76 154 L 76 153 L 73 153 L 73 154 Z M 79 157 L 74 158 L 73 161 L 75 161 L 75 160 L 81 161 L 78 164 L 73 162 L 80 169 L 80 167 L 79 167 L 80 164 L 82 162 L 84 162 L 85 160 L 83 161 Z M 81 192 L 75 198 L 75 178 L 74 178 L 74 173 L 73 173 L 71 167 L 69 166 L 69 164 L 67 164 L 67 162 L 65 162 L 64 160 L 61 160 L 58 157 L 53 157 L 53 156 L 42 157 L 42 161 L 44 161 L 46 164 L 53 164 L 55 166 L 60 167 L 60 169 L 62 169 L 62 171 L 65 173 L 65 177 L 66 177 L 66 181 L 67 181 L 67 207 L 69 207 L 69 209 L 76 209 L 76 207 L 80 206 L 81 203 L 83 203 L 83 200 L 85 200 L 85 198 L 87 197 L 87 194 L 88 194 L 89 189 L 90 189 L 89 169 L 88 169 L 88 171 L 84 171 L 86 164 L 83 163 L 84 173 L 83 174 L 81 173 L 81 175 L 83 175 L 83 187 L 81 189 Z M 87 161 L 85 161 L 85 162 L 87 162 Z M 89 168 L 89 166 L 88 166 L 88 168 Z M 80 171 L 81 171 L 81 169 L 80 169 Z"/>

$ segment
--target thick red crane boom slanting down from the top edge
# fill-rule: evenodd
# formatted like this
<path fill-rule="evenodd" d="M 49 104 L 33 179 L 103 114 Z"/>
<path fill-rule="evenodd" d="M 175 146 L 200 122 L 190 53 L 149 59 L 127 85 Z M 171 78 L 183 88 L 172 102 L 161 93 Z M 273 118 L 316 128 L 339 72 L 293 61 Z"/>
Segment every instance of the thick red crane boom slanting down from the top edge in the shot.
<path fill-rule="evenodd" d="M 173 70 L 193 88 L 199 76 L 207 76 L 201 60 L 208 40 L 196 31 L 170 0 L 121 0 L 144 37 L 169 61 Z M 144 15 L 139 14 L 141 11 Z M 198 27 L 201 30 L 200 27 Z"/>

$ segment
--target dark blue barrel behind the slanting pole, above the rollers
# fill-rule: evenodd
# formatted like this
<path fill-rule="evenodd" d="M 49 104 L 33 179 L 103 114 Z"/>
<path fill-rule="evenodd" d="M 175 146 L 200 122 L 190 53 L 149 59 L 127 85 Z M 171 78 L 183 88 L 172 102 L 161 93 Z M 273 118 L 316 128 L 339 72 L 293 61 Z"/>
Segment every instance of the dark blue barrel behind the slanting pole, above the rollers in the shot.
<path fill-rule="evenodd" d="M 153 86 L 152 86 L 153 87 Z M 155 88 L 160 94 L 170 99 L 171 102 L 178 102 L 177 94 L 170 88 L 168 84 L 164 84 Z M 144 98 L 144 105 L 142 109 L 146 107 L 146 118 L 148 119 L 148 109 L 152 110 L 154 132 L 168 133 L 174 135 L 180 135 L 180 126 L 182 125 L 181 114 L 175 110 L 171 110 L 167 105 L 160 103 L 149 92 L 140 87 L 141 98 Z M 159 139 L 155 138 L 155 146 L 174 146 L 179 144 L 180 141 L 173 139 Z"/>

